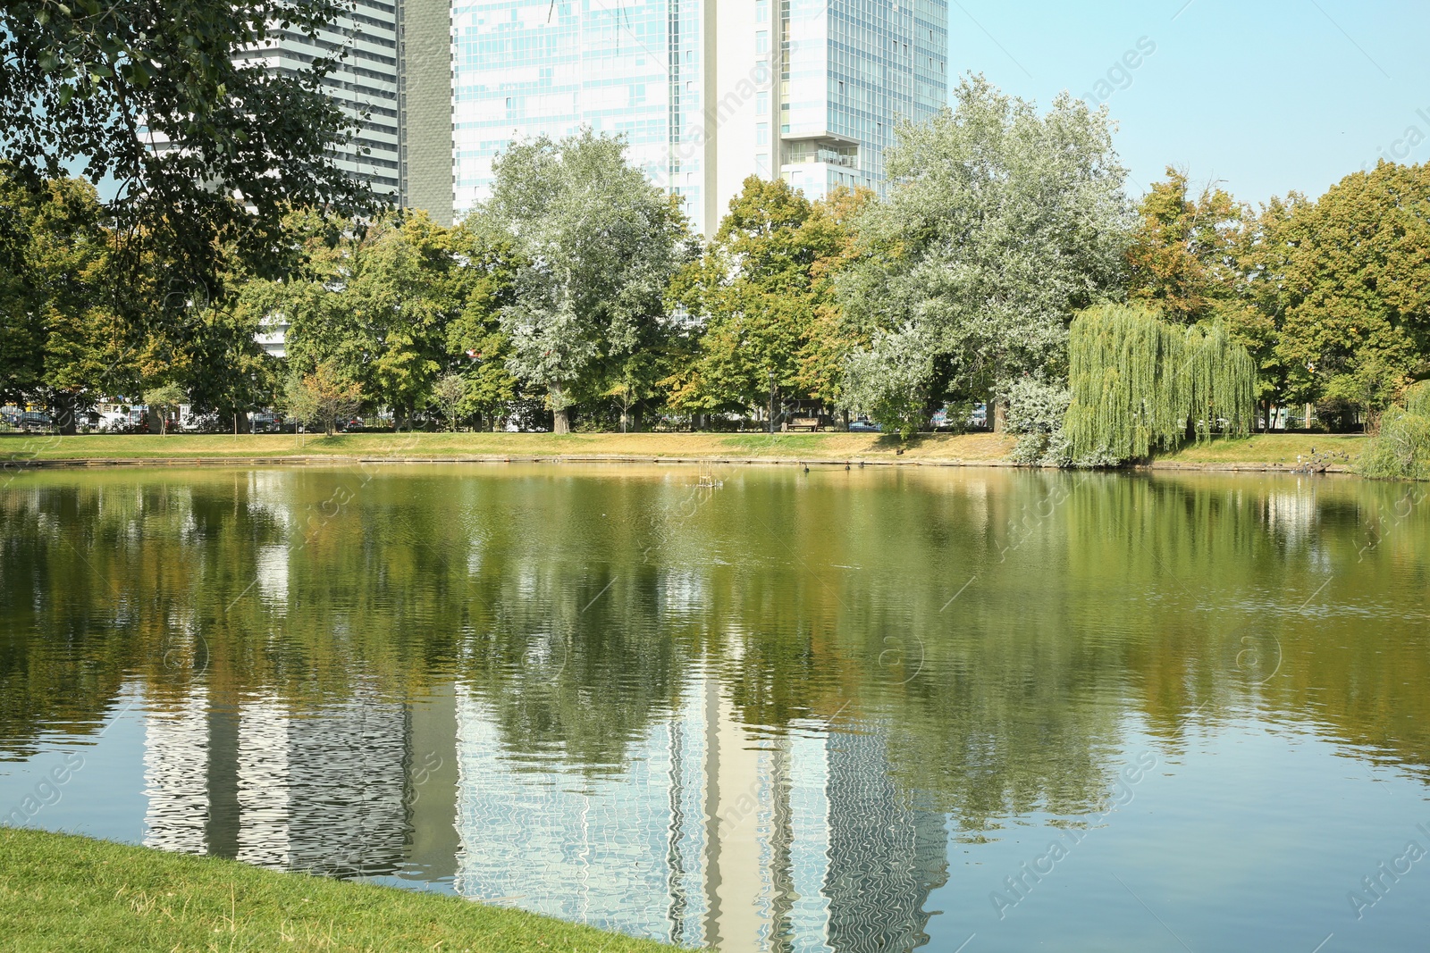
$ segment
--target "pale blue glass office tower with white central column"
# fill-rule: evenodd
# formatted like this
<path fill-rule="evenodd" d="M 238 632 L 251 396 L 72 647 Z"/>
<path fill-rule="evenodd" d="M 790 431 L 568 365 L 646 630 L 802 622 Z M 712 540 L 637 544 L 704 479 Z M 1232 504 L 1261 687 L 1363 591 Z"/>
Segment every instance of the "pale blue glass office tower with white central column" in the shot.
<path fill-rule="evenodd" d="M 513 137 L 591 126 L 712 233 L 746 176 L 884 187 L 947 100 L 947 0 L 455 0 L 456 211 Z"/>

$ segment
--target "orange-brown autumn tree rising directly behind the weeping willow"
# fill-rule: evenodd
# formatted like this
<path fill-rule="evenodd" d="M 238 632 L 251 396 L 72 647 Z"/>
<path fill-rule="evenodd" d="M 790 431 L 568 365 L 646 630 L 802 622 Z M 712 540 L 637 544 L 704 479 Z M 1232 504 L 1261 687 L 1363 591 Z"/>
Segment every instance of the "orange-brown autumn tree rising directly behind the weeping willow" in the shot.
<path fill-rule="evenodd" d="M 1210 184 L 1188 197 L 1187 173 L 1167 167 L 1137 210 L 1127 249 L 1128 297 L 1167 320 L 1194 324 L 1236 294 L 1237 240 L 1244 210 Z"/>

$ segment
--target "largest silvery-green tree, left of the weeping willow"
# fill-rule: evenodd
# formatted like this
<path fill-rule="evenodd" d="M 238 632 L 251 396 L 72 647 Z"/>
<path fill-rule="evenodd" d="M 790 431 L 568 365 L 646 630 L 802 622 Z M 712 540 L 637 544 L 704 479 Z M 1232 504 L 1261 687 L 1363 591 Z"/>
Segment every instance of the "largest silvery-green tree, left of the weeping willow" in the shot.
<path fill-rule="evenodd" d="M 1072 314 L 1124 284 L 1125 170 L 1105 109 L 1064 94 L 1040 116 L 981 76 L 954 100 L 898 127 L 889 197 L 858 216 L 838 283 L 871 340 L 848 400 L 901 430 L 950 396 L 1002 401 L 1025 371 L 1061 377 Z"/>

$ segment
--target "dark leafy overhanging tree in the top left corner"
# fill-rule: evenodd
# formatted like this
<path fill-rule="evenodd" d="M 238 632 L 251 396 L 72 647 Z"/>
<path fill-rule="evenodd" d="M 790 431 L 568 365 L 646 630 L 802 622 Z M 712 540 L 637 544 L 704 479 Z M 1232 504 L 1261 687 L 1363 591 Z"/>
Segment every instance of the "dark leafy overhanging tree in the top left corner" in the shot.
<path fill-rule="evenodd" d="M 269 70 L 283 31 L 319 37 L 340 0 L 14 0 L 0 9 L 0 150 L 30 184 L 113 181 L 110 306 L 146 324 L 220 297 L 230 256 L 277 264 L 295 206 L 366 206 L 332 150 L 356 131 L 323 80 L 342 56 Z M 326 43 L 326 40 L 325 40 Z M 143 294 L 153 277 L 157 297 Z M 159 311 L 154 311 L 157 300 Z"/>

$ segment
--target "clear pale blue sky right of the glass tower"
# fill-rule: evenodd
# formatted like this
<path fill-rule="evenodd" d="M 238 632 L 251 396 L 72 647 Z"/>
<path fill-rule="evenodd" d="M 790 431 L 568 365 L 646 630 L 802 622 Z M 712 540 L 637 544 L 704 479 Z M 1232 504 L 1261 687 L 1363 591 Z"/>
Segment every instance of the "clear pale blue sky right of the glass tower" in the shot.
<path fill-rule="evenodd" d="M 948 0 L 948 23 L 951 81 L 1045 107 L 1113 70 L 1133 196 L 1167 164 L 1260 203 L 1316 199 L 1397 140 L 1400 161 L 1430 160 L 1430 0 Z M 1141 37 L 1155 50 L 1118 74 Z"/>

